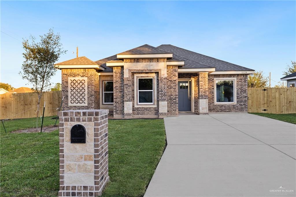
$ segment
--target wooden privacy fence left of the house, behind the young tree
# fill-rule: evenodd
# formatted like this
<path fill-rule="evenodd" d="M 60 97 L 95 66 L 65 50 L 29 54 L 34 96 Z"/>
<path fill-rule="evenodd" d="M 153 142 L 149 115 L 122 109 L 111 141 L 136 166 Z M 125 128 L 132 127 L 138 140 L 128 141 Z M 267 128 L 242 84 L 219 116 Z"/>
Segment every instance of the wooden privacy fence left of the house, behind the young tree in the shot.
<path fill-rule="evenodd" d="M 15 118 L 33 118 L 36 117 L 38 96 L 34 92 L 2 94 L 0 95 L 1 113 L 0 119 Z M 62 101 L 62 91 L 44 92 L 40 102 L 40 113 L 43 113 L 43 105 L 45 101 L 44 116 L 57 115 L 57 108 L 60 107 Z"/>

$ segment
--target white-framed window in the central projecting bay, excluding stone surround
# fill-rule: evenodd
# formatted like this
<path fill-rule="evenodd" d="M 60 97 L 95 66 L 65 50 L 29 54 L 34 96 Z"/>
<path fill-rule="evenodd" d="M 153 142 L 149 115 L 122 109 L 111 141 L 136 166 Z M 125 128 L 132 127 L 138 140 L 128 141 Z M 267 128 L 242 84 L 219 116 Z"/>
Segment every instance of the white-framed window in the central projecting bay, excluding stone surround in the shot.
<path fill-rule="evenodd" d="M 138 78 L 138 103 L 153 104 L 153 78 Z"/>

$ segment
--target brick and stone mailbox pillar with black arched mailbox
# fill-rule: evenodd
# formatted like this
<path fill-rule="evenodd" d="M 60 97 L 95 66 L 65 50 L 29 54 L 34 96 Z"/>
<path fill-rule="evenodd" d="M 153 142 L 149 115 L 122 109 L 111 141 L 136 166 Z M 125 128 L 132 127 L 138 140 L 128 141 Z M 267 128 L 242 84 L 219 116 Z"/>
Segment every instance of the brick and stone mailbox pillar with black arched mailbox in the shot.
<path fill-rule="evenodd" d="M 59 196 L 101 196 L 108 175 L 108 110 L 59 116 Z"/>

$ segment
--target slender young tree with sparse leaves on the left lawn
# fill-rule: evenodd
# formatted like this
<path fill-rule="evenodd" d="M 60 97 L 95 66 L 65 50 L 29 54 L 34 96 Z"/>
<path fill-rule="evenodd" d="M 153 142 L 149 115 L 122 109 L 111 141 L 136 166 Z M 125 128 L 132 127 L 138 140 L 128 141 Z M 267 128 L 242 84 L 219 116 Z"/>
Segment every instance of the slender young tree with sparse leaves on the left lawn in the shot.
<path fill-rule="evenodd" d="M 40 36 L 39 42 L 36 42 L 36 38 L 32 35 L 29 40 L 23 39 L 22 42 L 25 61 L 22 64 L 20 75 L 33 84 L 32 89 L 38 94 L 36 127 L 42 94 L 51 86 L 50 78 L 56 72 L 54 62 L 59 59 L 61 54 L 66 53 L 60 40 L 59 33 L 54 34 L 53 30 L 49 29 L 48 33 Z"/>

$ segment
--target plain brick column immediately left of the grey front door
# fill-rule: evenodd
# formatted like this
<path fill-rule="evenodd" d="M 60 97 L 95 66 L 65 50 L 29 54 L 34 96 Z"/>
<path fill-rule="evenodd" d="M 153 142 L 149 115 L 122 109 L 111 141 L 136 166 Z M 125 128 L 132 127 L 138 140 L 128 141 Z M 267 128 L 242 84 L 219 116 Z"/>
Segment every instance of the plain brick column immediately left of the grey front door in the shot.
<path fill-rule="evenodd" d="M 178 66 L 167 66 L 168 116 L 178 115 Z"/>

